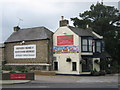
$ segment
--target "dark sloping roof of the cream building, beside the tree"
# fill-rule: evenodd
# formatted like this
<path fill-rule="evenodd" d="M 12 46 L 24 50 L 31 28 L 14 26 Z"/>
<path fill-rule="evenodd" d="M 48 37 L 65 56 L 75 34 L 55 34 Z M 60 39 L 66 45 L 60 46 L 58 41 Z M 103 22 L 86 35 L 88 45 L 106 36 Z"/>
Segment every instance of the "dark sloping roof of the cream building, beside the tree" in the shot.
<path fill-rule="evenodd" d="M 68 28 L 79 36 L 92 36 L 95 39 L 98 38 L 95 34 L 92 33 L 93 31 L 90 29 L 82 29 L 82 28 L 77 28 L 72 26 L 68 26 Z"/>

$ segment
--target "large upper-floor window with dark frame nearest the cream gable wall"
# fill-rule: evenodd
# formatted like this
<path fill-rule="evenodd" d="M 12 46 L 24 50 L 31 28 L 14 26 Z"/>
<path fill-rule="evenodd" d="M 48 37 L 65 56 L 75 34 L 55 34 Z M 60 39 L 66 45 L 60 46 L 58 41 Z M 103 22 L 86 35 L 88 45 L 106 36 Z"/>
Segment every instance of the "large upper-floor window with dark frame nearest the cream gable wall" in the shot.
<path fill-rule="evenodd" d="M 82 38 L 82 51 L 92 52 L 92 38 Z"/>

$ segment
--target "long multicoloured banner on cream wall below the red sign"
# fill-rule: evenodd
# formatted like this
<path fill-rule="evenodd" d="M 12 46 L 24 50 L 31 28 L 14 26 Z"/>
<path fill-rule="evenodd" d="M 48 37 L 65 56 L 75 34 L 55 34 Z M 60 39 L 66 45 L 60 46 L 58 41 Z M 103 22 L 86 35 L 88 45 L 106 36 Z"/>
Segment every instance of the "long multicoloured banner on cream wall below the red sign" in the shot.
<path fill-rule="evenodd" d="M 78 53 L 78 46 L 54 46 L 53 53 Z"/>

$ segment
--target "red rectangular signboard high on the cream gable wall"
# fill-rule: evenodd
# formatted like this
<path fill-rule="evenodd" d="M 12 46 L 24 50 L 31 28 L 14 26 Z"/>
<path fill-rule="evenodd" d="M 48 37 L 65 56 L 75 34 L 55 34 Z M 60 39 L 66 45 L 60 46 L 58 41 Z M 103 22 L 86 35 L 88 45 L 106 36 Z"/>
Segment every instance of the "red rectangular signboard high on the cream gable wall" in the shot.
<path fill-rule="evenodd" d="M 57 45 L 73 45 L 73 35 L 57 36 Z"/>

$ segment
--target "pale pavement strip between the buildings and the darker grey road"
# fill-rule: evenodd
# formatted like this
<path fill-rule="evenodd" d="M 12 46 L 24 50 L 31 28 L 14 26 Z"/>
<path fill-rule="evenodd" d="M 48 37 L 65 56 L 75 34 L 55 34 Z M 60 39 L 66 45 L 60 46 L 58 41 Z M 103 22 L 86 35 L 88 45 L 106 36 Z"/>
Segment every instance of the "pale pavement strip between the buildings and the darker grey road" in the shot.
<path fill-rule="evenodd" d="M 116 77 L 117 76 L 117 77 Z M 90 83 L 90 82 L 118 82 L 118 74 L 106 76 L 35 76 L 35 80 L 0 80 L 1 85 L 24 84 L 42 81 L 43 83 Z"/>

